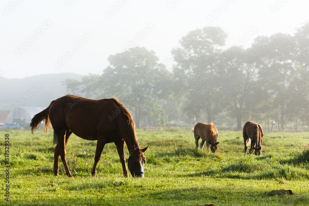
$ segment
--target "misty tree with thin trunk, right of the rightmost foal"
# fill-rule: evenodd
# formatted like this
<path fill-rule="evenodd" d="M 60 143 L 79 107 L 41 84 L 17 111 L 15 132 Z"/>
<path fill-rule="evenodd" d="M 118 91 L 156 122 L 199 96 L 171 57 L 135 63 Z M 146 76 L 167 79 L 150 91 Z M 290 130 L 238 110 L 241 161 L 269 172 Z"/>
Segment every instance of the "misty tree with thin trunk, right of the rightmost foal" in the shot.
<path fill-rule="evenodd" d="M 260 36 L 255 39 L 252 49 L 256 54 L 259 66 L 259 81 L 273 96 L 272 109 L 280 114 L 281 130 L 286 119 L 285 100 L 289 97 L 287 88 L 297 75 L 295 67 L 294 38 L 287 34 L 277 33 L 270 37 Z"/>

